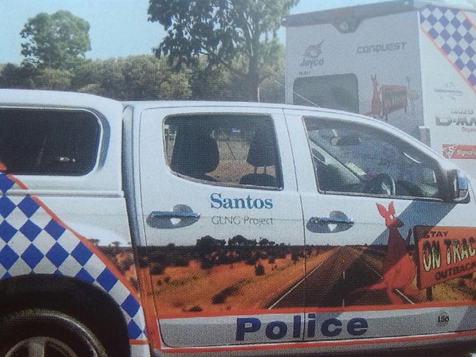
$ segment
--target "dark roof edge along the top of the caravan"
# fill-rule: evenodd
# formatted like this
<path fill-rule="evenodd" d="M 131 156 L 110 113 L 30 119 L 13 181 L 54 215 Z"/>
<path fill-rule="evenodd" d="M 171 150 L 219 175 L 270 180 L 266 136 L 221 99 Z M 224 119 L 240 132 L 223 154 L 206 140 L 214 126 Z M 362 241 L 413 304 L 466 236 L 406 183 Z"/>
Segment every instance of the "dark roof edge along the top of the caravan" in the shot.
<path fill-rule="evenodd" d="M 299 27 L 330 23 L 339 29 L 340 25 L 345 22 L 348 27 L 341 32 L 352 32 L 364 19 L 415 11 L 429 4 L 455 7 L 455 5 L 435 0 L 391 0 L 287 15 L 283 17 L 282 24 L 285 27 Z M 475 11 L 476 9 L 469 8 L 469 10 Z"/>

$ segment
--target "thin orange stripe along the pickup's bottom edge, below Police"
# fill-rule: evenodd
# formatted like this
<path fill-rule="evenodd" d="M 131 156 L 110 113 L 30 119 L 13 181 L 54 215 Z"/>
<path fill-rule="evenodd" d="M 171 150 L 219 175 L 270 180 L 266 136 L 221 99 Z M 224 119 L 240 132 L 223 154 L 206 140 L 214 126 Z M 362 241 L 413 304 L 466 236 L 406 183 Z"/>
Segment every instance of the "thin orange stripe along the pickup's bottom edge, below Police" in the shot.
<path fill-rule="evenodd" d="M 465 336 L 475 336 L 476 330 L 463 332 L 448 332 L 437 335 L 419 335 L 419 336 L 401 336 L 401 337 L 385 337 L 358 340 L 341 340 L 341 341 L 310 341 L 310 342 L 290 342 L 281 344 L 262 344 L 262 345 L 242 345 L 242 346 L 217 346 L 217 347 L 186 347 L 186 348 L 164 348 L 164 353 L 197 353 L 197 352 L 229 352 L 229 351 L 249 351 L 249 350 L 276 350 L 276 349 L 292 349 L 292 348 L 309 348 L 309 347 L 338 347 L 353 345 L 373 345 L 392 342 L 411 342 L 421 340 L 439 340 L 443 338 L 455 338 Z"/>

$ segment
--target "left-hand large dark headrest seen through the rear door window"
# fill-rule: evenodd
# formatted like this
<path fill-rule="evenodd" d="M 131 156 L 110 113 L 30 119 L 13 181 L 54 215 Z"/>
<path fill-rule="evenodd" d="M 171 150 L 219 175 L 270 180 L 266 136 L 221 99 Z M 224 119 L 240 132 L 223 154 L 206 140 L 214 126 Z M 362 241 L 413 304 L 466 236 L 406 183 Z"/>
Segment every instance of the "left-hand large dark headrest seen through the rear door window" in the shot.
<path fill-rule="evenodd" d="M 177 137 L 172 154 L 171 169 L 179 174 L 201 178 L 214 171 L 219 162 L 217 141 L 210 136 Z"/>

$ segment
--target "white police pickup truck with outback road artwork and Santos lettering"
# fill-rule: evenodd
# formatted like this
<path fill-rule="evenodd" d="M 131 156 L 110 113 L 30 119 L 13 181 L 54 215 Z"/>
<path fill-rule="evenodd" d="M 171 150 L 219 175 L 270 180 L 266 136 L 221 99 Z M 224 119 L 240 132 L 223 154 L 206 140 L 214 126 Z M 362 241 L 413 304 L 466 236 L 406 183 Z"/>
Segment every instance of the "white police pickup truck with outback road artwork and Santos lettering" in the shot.
<path fill-rule="evenodd" d="M 357 114 L 0 90 L 0 356 L 476 339 L 476 198 Z"/>

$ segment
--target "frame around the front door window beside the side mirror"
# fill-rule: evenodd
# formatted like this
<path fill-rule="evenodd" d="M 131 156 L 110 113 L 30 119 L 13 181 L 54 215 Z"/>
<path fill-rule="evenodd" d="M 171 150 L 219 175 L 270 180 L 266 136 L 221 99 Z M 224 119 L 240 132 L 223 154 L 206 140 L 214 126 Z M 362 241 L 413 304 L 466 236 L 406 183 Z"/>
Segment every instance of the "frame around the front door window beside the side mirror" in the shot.
<path fill-rule="evenodd" d="M 438 197 L 438 198 L 436 198 L 436 197 L 418 197 L 418 196 L 407 196 L 407 195 L 386 195 L 386 194 L 378 194 L 378 193 L 342 192 L 342 191 L 324 191 L 324 190 L 322 190 L 320 188 L 320 185 L 319 185 L 319 178 L 318 178 L 318 174 L 317 174 L 317 171 L 316 171 L 316 166 L 315 166 L 315 163 L 314 163 L 314 159 L 312 158 L 312 148 L 311 148 L 311 145 L 310 145 L 310 138 L 309 138 L 309 132 L 308 132 L 309 130 L 307 129 L 307 126 L 306 126 L 306 123 L 305 123 L 306 119 L 318 120 L 320 122 L 326 123 L 327 125 L 329 125 L 329 123 L 332 123 L 332 122 L 338 123 L 338 124 L 344 124 L 344 125 L 354 124 L 357 127 L 365 128 L 367 131 L 368 130 L 370 130 L 370 131 L 380 131 L 384 135 L 379 136 L 379 137 L 384 137 L 384 138 L 390 137 L 390 138 L 392 138 L 392 142 L 401 143 L 403 147 L 410 147 L 414 151 L 420 153 L 427 160 L 428 163 L 431 163 L 433 165 L 433 170 L 434 170 L 435 177 L 436 177 L 438 192 L 440 192 L 439 193 L 440 197 Z M 308 153 L 310 155 L 311 162 L 312 162 L 312 169 L 314 171 L 314 178 L 315 178 L 314 181 L 315 181 L 316 189 L 320 194 L 351 196 L 351 197 L 402 199 L 402 200 L 413 200 L 413 201 L 414 200 L 421 200 L 421 201 L 432 201 L 432 202 L 445 202 L 445 198 L 446 198 L 446 195 L 447 195 L 446 175 L 443 172 L 443 168 L 441 167 L 440 162 L 436 158 L 433 158 L 433 157 L 427 155 L 426 153 L 422 152 L 417 146 L 413 145 L 412 143 L 400 138 L 399 136 L 395 135 L 394 133 L 392 133 L 388 130 L 384 130 L 381 127 L 378 127 L 378 126 L 369 125 L 367 123 L 361 123 L 361 122 L 356 122 L 356 121 L 346 121 L 346 120 L 343 120 L 343 119 L 336 119 L 336 118 L 329 118 L 329 117 L 314 117 L 314 116 L 302 116 L 301 121 L 302 121 L 302 127 L 304 128 L 304 132 L 305 132 L 305 135 L 306 135 L 306 139 L 307 139 Z M 464 203 L 467 203 L 467 202 L 464 202 Z"/>

